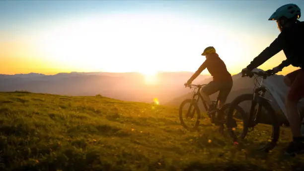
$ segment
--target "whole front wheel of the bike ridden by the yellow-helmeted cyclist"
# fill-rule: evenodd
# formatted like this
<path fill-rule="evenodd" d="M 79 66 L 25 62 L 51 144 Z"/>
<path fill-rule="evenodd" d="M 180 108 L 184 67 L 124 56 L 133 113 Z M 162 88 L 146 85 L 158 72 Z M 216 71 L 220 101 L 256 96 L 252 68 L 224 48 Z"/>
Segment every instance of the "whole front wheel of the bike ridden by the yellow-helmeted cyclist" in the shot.
<path fill-rule="evenodd" d="M 183 116 L 185 114 L 185 116 Z M 200 109 L 192 99 L 184 100 L 179 106 L 179 120 L 181 125 L 189 131 L 197 130 L 200 123 Z"/>

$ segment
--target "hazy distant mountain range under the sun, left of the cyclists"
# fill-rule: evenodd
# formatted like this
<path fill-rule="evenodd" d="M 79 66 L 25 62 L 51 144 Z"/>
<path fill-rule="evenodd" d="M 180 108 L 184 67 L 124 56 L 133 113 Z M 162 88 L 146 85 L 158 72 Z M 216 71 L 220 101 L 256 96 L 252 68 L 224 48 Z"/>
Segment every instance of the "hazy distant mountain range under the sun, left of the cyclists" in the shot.
<path fill-rule="evenodd" d="M 160 72 L 157 83 L 145 83 L 140 73 L 58 73 L 43 75 L 37 73 L 0 75 L 0 91 L 27 90 L 30 92 L 60 95 L 96 95 L 128 100 L 152 102 L 158 98 L 160 104 L 173 97 L 189 92 L 183 84 L 192 76 L 191 72 Z M 200 75 L 203 81 L 211 76 Z"/>

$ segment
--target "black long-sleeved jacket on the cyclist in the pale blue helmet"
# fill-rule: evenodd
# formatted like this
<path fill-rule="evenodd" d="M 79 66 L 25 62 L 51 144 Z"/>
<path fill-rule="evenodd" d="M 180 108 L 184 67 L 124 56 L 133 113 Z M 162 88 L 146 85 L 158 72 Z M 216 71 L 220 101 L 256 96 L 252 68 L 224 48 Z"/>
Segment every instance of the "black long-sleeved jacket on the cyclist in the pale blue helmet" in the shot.
<path fill-rule="evenodd" d="M 284 51 L 286 60 L 279 65 L 282 70 L 284 67 L 292 65 L 294 67 L 304 68 L 304 22 L 298 21 L 289 28 L 285 28 L 279 36 L 263 50 L 253 61 L 247 66 L 252 70 L 262 65 L 281 50 Z"/>

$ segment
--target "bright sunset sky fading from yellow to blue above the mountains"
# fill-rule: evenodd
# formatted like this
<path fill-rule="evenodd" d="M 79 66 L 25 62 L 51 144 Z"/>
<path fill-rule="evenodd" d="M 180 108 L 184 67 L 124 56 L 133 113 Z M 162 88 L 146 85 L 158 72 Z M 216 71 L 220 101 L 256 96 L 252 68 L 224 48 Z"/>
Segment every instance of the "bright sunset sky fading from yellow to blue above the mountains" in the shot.
<path fill-rule="evenodd" d="M 286 3 L 304 9 L 303 0 L 2 0 L 0 74 L 195 72 L 207 46 L 237 74 L 278 36 L 268 18 Z"/>

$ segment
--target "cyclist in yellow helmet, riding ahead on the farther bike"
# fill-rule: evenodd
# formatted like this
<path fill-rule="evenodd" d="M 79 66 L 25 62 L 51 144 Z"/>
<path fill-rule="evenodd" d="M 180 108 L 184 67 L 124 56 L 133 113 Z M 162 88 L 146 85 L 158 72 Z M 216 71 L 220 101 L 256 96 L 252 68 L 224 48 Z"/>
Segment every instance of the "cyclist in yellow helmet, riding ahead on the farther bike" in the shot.
<path fill-rule="evenodd" d="M 199 69 L 192 75 L 192 77 L 185 83 L 185 85 L 190 85 L 194 79 L 196 79 L 203 70 L 207 68 L 211 76 L 213 76 L 213 81 L 204 86 L 201 89 L 201 94 L 206 100 L 207 104 L 210 106 L 208 113 L 214 112 L 216 106 L 213 106 L 209 95 L 220 91 L 218 95 L 220 108 L 225 104 L 228 94 L 231 91 L 233 82 L 231 74 L 227 71 L 226 65 L 223 60 L 216 53 L 213 46 L 207 47 L 202 56 L 206 56 L 205 62 L 199 67 Z M 211 121 L 215 123 L 215 120 Z"/>

